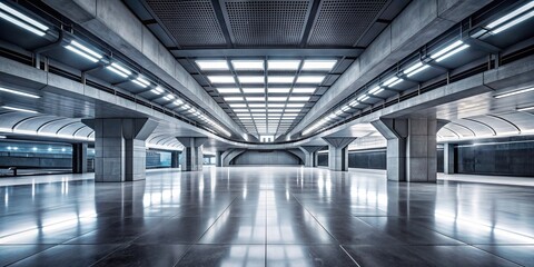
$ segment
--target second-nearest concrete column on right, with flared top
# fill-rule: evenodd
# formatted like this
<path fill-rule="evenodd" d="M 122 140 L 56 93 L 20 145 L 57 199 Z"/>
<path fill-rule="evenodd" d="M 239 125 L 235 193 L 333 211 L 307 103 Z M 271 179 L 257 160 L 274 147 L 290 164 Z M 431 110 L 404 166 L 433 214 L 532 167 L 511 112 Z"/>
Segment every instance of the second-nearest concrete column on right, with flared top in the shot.
<path fill-rule="evenodd" d="M 348 170 L 348 145 L 356 137 L 323 137 L 328 144 L 328 169 Z"/>

